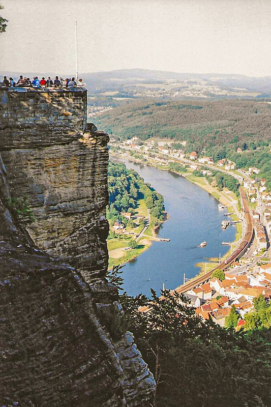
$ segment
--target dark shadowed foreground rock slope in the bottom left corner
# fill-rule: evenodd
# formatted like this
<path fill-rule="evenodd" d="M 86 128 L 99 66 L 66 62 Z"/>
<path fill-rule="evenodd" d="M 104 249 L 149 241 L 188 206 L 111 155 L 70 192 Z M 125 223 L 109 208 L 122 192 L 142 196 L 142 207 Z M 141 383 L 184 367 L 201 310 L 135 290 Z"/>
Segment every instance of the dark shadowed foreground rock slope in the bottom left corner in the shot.
<path fill-rule="evenodd" d="M 19 231 L 0 239 L 0 404 L 127 405 L 121 363 L 80 273 Z"/>

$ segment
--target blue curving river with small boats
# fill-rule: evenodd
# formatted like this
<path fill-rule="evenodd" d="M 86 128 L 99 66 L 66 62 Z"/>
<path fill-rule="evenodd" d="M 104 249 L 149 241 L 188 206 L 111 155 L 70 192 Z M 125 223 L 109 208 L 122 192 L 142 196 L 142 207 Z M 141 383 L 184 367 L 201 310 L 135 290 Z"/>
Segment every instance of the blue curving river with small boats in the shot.
<path fill-rule="evenodd" d="M 170 242 L 154 241 L 148 250 L 122 269 L 123 288 L 129 295 L 142 293 L 150 297 L 150 288 L 160 294 L 163 283 L 165 288 L 174 289 L 183 284 L 184 273 L 186 278 L 198 274 L 197 263 L 229 250 L 229 246 L 221 243 L 234 240 L 236 227 L 221 228 L 227 210 L 219 211 L 219 202 L 212 195 L 172 172 L 130 160 L 120 161 L 164 196 L 165 210 L 169 214 L 158 237 L 169 238 Z M 197 247 L 204 240 L 207 246 Z"/>

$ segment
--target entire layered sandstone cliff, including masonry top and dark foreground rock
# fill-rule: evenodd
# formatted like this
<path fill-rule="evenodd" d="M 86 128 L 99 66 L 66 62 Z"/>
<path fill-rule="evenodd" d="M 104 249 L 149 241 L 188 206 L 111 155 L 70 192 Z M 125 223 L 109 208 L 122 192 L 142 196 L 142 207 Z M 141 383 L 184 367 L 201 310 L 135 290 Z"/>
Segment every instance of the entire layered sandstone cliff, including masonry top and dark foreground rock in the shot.
<path fill-rule="evenodd" d="M 86 126 L 84 89 L 0 97 L 0 397 L 143 405 L 153 376 L 105 279 L 108 135 Z M 26 197 L 34 222 L 23 228 L 7 202 Z"/>

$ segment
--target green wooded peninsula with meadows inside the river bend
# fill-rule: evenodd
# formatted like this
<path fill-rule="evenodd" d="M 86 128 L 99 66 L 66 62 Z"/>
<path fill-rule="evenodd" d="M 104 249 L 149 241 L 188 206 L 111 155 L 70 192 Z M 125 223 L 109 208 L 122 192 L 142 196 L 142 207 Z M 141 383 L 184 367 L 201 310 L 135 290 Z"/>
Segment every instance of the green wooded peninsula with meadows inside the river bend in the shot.
<path fill-rule="evenodd" d="M 158 238 L 155 232 L 168 217 L 164 198 L 144 183 L 135 170 L 126 168 L 123 163 L 110 161 L 108 192 L 109 268 L 137 257 L 152 240 L 168 241 Z"/>

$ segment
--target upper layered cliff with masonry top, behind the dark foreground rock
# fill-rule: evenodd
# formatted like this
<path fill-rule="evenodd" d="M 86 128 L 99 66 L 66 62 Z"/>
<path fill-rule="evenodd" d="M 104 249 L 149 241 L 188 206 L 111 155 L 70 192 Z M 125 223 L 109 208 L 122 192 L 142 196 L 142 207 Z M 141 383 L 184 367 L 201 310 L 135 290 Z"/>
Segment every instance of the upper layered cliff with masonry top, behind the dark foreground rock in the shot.
<path fill-rule="evenodd" d="M 27 197 L 29 235 L 91 281 L 104 275 L 108 135 L 83 134 L 86 91 L 13 88 L 1 92 L 0 152 L 11 196 Z"/>

